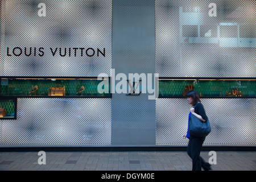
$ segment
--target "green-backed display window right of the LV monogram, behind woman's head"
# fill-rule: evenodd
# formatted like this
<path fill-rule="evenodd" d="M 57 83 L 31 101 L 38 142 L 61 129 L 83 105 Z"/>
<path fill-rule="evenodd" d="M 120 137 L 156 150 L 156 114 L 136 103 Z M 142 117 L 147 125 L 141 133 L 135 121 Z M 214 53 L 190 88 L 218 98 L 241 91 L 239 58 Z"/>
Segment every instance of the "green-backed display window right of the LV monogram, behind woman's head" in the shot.
<path fill-rule="evenodd" d="M 159 77 L 159 98 L 184 98 L 193 89 L 200 98 L 256 98 L 256 78 Z"/>

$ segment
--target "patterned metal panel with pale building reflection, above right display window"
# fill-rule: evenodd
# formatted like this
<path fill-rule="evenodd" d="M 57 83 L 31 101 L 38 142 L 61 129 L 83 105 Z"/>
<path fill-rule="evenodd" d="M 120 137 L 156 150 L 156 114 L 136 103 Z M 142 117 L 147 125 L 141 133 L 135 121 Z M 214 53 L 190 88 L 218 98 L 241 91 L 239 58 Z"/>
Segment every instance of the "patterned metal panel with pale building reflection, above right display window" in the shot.
<path fill-rule="evenodd" d="M 210 3 L 216 16 L 209 15 Z M 255 77 L 255 9 L 251 0 L 156 0 L 156 73 Z"/>

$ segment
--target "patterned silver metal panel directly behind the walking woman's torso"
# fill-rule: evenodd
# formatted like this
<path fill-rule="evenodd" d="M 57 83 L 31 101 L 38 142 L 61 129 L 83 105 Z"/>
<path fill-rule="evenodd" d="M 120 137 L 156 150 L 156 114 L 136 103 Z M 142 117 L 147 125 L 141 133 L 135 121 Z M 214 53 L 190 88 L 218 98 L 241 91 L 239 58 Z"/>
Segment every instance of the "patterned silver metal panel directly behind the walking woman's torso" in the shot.
<path fill-rule="evenodd" d="M 204 146 L 256 146 L 256 98 L 201 98 L 212 127 Z M 187 146 L 184 98 L 156 100 L 156 145 Z"/>

